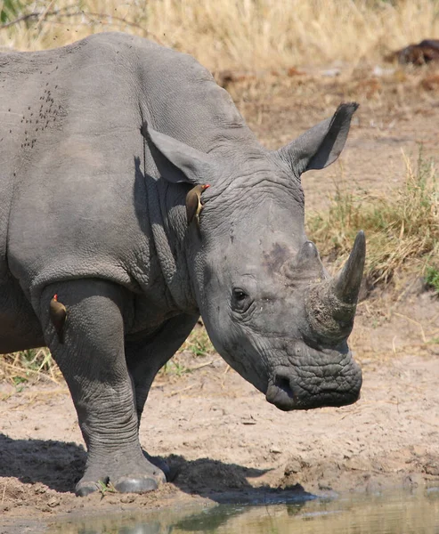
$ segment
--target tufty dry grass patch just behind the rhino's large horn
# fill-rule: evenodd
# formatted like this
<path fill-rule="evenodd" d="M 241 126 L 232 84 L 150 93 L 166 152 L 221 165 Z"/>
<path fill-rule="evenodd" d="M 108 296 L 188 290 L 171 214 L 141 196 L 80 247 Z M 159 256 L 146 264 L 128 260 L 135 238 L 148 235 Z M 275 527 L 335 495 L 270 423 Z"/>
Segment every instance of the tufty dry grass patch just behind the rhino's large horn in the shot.
<path fill-rule="evenodd" d="M 419 158 L 413 166 L 405 158 L 406 179 L 394 196 L 364 196 L 337 189 L 329 211 L 311 214 L 308 228 L 321 254 L 346 259 L 354 237 L 367 237 L 365 274 L 374 283 L 387 282 L 411 260 L 419 274 L 439 266 L 439 182 L 433 161 Z M 339 262 L 338 262 L 339 263 Z"/>

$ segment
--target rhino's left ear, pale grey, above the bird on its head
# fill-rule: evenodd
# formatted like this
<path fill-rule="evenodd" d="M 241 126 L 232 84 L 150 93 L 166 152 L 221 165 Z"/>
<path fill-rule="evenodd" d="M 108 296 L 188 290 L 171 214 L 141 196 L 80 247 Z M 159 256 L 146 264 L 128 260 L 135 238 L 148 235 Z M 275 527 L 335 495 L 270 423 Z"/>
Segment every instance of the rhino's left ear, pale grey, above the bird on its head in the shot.
<path fill-rule="evenodd" d="M 168 182 L 194 185 L 209 182 L 214 161 L 208 154 L 192 149 L 173 137 L 160 134 L 146 123 L 142 125 L 142 135 L 150 146 L 159 173 Z"/>

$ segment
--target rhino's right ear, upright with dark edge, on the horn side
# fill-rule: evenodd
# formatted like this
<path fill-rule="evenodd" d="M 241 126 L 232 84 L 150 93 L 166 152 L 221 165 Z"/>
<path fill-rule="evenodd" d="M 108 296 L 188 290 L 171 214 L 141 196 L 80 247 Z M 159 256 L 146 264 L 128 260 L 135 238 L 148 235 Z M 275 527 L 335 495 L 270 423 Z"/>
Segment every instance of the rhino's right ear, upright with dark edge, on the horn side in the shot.
<path fill-rule="evenodd" d="M 280 158 L 302 174 L 310 169 L 322 169 L 333 163 L 345 147 L 351 118 L 358 104 L 338 106 L 334 116 L 313 126 L 289 145 L 278 150 Z"/>

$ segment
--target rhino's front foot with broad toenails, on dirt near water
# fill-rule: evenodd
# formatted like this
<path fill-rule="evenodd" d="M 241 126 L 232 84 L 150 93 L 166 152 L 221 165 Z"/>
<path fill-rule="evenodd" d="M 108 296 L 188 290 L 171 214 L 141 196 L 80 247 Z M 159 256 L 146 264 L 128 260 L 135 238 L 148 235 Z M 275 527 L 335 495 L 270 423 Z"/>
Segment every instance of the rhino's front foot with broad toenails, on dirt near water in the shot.
<path fill-rule="evenodd" d="M 146 455 L 145 455 L 146 456 Z M 159 458 L 151 458 L 157 462 Z M 153 465 L 146 458 L 143 458 L 140 465 L 129 465 L 121 462 L 121 465 L 113 469 L 96 469 L 96 465 L 90 465 L 85 470 L 83 478 L 77 482 L 76 494 L 78 497 L 86 497 L 93 491 L 102 490 L 103 487 L 112 486 L 120 493 L 142 493 L 143 491 L 157 490 L 159 485 L 167 481 L 165 473 L 157 465 Z M 167 465 L 161 461 L 164 466 Z M 161 464 L 160 464 L 161 465 Z"/>

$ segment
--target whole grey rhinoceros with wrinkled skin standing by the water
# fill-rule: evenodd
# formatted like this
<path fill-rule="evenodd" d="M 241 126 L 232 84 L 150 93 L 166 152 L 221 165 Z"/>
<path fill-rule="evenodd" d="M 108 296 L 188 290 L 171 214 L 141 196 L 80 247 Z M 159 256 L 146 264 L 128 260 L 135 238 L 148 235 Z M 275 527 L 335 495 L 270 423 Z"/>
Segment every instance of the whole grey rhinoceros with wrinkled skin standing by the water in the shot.
<path fill-rule="evenodd" d="M 164 480 L 138 425 L 199 313 L 224 360 L 278 408 L 358 399 L 346 338 L 364 238 L 329 279 L 300 183 L 338 157 L 355 109 L 270 151 L 206 69 L 141 38 L 0 55 L 0 352 L 53 352 L 88 449 L 78 495 L 99 480 L 120 491 Z M 199 229 L 188 227 L 185 196 L 205 183 Z"/>

